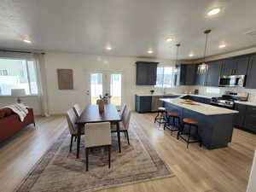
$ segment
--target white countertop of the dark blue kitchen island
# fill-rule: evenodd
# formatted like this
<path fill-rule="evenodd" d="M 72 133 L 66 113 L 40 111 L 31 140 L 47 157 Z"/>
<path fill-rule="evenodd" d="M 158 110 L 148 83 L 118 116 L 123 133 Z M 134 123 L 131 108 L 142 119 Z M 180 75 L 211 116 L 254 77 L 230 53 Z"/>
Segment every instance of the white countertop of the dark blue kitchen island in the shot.
<path fill-rule="evenodd" d="M 201 102 L 193 102 L 196 105 L 190 105 L 183 103 L 184 100 L 180 98 L 175 99 L 160 99 L 163 102 L 169 102 L 173 105 L 176 105 L 181 108 L 187 108 L 191 111 L 195 111 L 196 113 L 201 113 L 204 115 L 217 115 L 217 114 L 232 114 L 232 113 L 238 113 L 238 111 L 230 110 L 227 108 L 218 108 L 212 105 L 207 105 Z"/>

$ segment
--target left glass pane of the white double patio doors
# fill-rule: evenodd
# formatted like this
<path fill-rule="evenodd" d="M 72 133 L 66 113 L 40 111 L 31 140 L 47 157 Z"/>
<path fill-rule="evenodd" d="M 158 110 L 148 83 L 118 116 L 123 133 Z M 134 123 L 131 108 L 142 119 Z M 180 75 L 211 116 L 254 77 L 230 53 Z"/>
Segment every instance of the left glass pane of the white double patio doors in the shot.
<path fill-rule="evenodd" d="M 90 101 L 96 104 L 96 100 L 102 95 L 102 73 L 90 74 Z"/>

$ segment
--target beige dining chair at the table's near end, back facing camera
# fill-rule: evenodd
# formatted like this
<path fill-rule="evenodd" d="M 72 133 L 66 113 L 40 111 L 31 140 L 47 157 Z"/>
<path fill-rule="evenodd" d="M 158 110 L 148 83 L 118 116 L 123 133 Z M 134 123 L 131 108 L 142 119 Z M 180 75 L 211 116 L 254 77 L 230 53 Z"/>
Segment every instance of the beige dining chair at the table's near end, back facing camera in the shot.
<path fill-rule="evenodd" d="M 84 126 L 84 148 L 86 159 L 86 172 L 89 164 L 89 149 L 96 147 L 108 148 L 108 168 L 110 168 L 111 160 L 111 129 L 110 123 L 89 123 Z"/>

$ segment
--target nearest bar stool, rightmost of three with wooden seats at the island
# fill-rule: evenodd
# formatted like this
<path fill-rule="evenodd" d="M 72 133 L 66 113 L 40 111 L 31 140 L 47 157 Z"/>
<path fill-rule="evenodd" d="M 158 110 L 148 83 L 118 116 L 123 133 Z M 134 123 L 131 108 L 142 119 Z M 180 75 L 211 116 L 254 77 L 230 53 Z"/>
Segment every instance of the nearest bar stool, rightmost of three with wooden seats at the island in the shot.
<path fill-rule="evenodd" d="M 184 128 L 185 125 L 189 126 L 189 132 L 184 132 Z M 190 137 L 194 137 L 195 135 L 191 134 L 191 129 L 194 128 L 195 129 L 195 134 L 196 134 L 196 139 L 190 141 Z M 187 135 L 188 139 L 183 137 L 183 135 Z M 190 118 L 184 118 L 183 119 L 183 129 L 181 131 L 177 132 L 177 140 L 179 139 L 179 137 L 181 137 L 186 143 L 187 143 L 187 148 L 189 148 L 189 143 L 200 143 L 200 147 L 201 147 L 201 137 L 198 131 L 198 122 L 194 119 L 190 119 Z"/>

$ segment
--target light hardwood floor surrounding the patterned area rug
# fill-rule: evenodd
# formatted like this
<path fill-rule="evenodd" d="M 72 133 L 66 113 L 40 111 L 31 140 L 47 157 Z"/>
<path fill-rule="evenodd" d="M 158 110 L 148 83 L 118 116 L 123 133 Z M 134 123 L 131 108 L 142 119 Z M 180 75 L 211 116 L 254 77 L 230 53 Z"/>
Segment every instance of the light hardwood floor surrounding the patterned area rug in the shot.
<path fill-rule="evenodd" d="M 256 135 L 235 129 L 228 148 L 189 150 L 176 133 L 153 123 L 154 113 L 133 113 L 154 148 L 176 177 L 104 189 L 102 192 L 245 192 L 256 148 Z M 64 116 L 38 118 L 0 147 L 0 191 L 11 192 L 67 126 Z"/>

